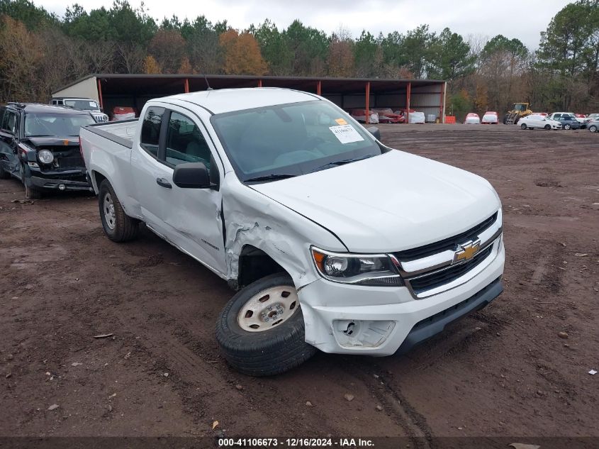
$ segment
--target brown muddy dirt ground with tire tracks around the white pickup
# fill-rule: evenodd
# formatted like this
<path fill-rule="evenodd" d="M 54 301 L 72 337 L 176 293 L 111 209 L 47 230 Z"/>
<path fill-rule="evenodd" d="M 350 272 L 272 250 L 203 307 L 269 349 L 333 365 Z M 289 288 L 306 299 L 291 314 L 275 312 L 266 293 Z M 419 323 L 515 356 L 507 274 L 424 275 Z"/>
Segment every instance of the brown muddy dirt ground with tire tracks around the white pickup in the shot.
<path fill-rule="evenodd" d="M 112 243 L 89 194 L 1 180 L 0 436 L 599 436 L 599 134 L 380 128 L 497 189 L 493 304 L 408 355 L 245 377 L 215 343 L 223 280 L 145 228 Z"/>

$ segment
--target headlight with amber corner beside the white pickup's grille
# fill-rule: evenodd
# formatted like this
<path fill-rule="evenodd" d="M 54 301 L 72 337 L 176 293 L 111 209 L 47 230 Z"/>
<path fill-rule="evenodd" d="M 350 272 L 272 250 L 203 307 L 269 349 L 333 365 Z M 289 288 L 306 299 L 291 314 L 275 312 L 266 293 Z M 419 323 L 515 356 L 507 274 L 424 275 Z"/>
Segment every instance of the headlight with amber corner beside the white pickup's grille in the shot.
<path fill-rule="evenodd" d="M 310 248 L 322 277 L 344 284 L 394 287 L 403 285 L 391 257 L 386 254 L 330 253 Z"/>

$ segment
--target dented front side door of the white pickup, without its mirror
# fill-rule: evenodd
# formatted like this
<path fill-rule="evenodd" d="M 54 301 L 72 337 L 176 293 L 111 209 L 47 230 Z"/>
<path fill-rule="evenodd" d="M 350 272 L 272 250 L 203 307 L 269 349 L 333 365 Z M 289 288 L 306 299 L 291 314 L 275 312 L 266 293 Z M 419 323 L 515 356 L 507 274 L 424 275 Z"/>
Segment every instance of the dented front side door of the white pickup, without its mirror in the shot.
<path fill-rule="evenodd" d="M 177 165 L 203 162 L 211 179 L 221 184 L 220 158 L 193 112 L 171 106 L 162 121 L 157 157 L 148 161 L 151 169 L 136 174 L 138 185 L 145 187 L 140 196 L 142 211 L 150 214 L 155 230 L 184 253 L 217 273 L 226 273 L 220 191 L 181 188 L 172 180 Z"/>

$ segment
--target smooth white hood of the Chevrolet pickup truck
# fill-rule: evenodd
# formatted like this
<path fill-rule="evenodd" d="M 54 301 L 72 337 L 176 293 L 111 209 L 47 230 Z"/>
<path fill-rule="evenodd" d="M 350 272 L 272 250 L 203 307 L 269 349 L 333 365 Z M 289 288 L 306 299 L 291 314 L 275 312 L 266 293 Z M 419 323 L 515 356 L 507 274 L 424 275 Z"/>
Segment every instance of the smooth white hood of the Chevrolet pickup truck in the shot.
<path fill-rule="evenodd" d="M 356 253 L 433 243 L 500 207 L 485 179 L 398 150 L 252 188 L 327 228 Z"/>

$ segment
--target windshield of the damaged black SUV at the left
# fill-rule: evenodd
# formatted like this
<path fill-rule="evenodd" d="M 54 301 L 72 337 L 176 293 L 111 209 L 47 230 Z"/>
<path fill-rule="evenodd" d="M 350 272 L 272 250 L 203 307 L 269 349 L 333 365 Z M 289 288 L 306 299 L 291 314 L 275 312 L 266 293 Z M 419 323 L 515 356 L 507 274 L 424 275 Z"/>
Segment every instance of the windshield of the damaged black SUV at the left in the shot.
<path fill-rule="evenodd" d="M 87 113 L 28 113 L 25 116 L 25 136 L 67 137 L 79 135 L 79 128 L 93 125 L 94 118 Z"/>

